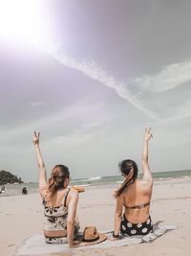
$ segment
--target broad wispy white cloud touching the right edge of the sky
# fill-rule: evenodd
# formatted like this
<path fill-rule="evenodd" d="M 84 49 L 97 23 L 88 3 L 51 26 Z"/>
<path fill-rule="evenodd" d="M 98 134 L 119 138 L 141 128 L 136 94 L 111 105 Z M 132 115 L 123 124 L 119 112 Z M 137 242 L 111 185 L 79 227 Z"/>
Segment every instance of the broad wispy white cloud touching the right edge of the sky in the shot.
<path fill-rule="evenodd" d="M 164 92 L 191 81 L 191 61 L 171 64 L 164 67 L 159 74 L 144 75 L 131 81 L 140 89 L 153 92 Z"/>

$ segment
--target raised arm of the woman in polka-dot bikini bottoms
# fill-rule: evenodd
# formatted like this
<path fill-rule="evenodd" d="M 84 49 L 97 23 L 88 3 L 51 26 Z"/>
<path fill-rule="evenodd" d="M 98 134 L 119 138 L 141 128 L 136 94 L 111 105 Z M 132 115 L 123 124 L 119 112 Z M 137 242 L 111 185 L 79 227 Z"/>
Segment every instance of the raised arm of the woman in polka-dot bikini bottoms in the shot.
<path fill-rule="evenodd" d="M 150 184 L 153 183 L 153 177 L 149 167 L 149 140 L 153 138 L 151 133 L 151 128 L 145 128 L 144 140 L 143 140 L 143 151 L 142 151 L 142 172 L 143 172 L 143 181 L 146 181 Z"/>

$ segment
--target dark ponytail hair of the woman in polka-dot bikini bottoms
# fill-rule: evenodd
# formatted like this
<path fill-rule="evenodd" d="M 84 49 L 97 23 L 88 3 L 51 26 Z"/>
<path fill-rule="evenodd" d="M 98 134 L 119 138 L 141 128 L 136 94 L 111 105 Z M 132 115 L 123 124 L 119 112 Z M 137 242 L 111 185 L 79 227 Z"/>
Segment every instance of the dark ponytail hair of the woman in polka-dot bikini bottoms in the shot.
<path fill-rule="evenodd" d="M 121 186 L 115 192 L 115 198 L 118 198 L 131 183 L 133 183 L 138 177 L 138 166 L 133 160 L 127 159 L 118 163 L 118 168 L 121 175 L 125 175 L 126 178 Z"/>

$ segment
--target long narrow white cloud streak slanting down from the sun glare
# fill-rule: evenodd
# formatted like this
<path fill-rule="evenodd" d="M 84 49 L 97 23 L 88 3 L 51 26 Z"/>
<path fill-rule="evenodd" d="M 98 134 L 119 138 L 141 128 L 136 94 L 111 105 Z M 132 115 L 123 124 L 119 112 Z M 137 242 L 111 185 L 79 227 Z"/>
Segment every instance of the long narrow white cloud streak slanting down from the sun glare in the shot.
<path fill-rule="evenodd" d="M 117 81 L 114 77 L 109 76 L 106 71 L 102 70 L 95 61 L 92 60 L 82 60 L 77 61 L 75 58 L 70 58 L 67 54 L 60 53 L 56 46 L 49 44 L 46 46 L 46 49 L 43 49 L 49 54 L 52 58 L 56 59 L 62 65 L 73 68 L 82 72 L 85 76 L 101 82 L 103 85 L 112 88 L 116 91 L 117 95 L 129 102 L 131 105 L 135 106 L 143 114 L 149 118 L 156 120 L 158 117 L 155 112 L 150 109 L 147 109 L 142 103 L 138 100 L 138 97 L 133 95 L 130 90 L 128 90 L 127 85 L 122 81 Z"/>

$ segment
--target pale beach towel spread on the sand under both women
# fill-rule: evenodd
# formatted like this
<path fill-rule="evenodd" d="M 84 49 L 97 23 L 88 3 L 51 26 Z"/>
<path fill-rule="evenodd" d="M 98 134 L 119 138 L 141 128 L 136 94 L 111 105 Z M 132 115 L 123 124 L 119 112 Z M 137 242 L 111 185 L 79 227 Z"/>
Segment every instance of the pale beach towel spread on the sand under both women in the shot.
<path fill-rule="evenodd" d="M 85 245 L 77 248 L 70 249 L 68 244 L 46 244 L 44 236 L 40 234 L 34 234 L 32 237 L 26 239 L 24 243 L 18 247 L 17 251 L 14 253 L 15 256 L 24 255 L 41 255 L 41 254 L 54 254 L 61 252 L 70 252 L 73 250 L 73 254 L 81 249 L 89 248 L 111 248 L 118 246 L 126 246 L 131 244 L 141 244 L 141 243 L 152 243 L 154 240 L 158 239 L 160 236 L 165 234 L 169 230 L 176 229 L 175 225 L 163 225 L 159 229 L 155 230 L 145 236 L 133 236 L 133 237 L 123 237 L 121 240 L 111 241 L 112 231 L 102 231 L 108 236 L 108 239 L 100 244 Z"/>

